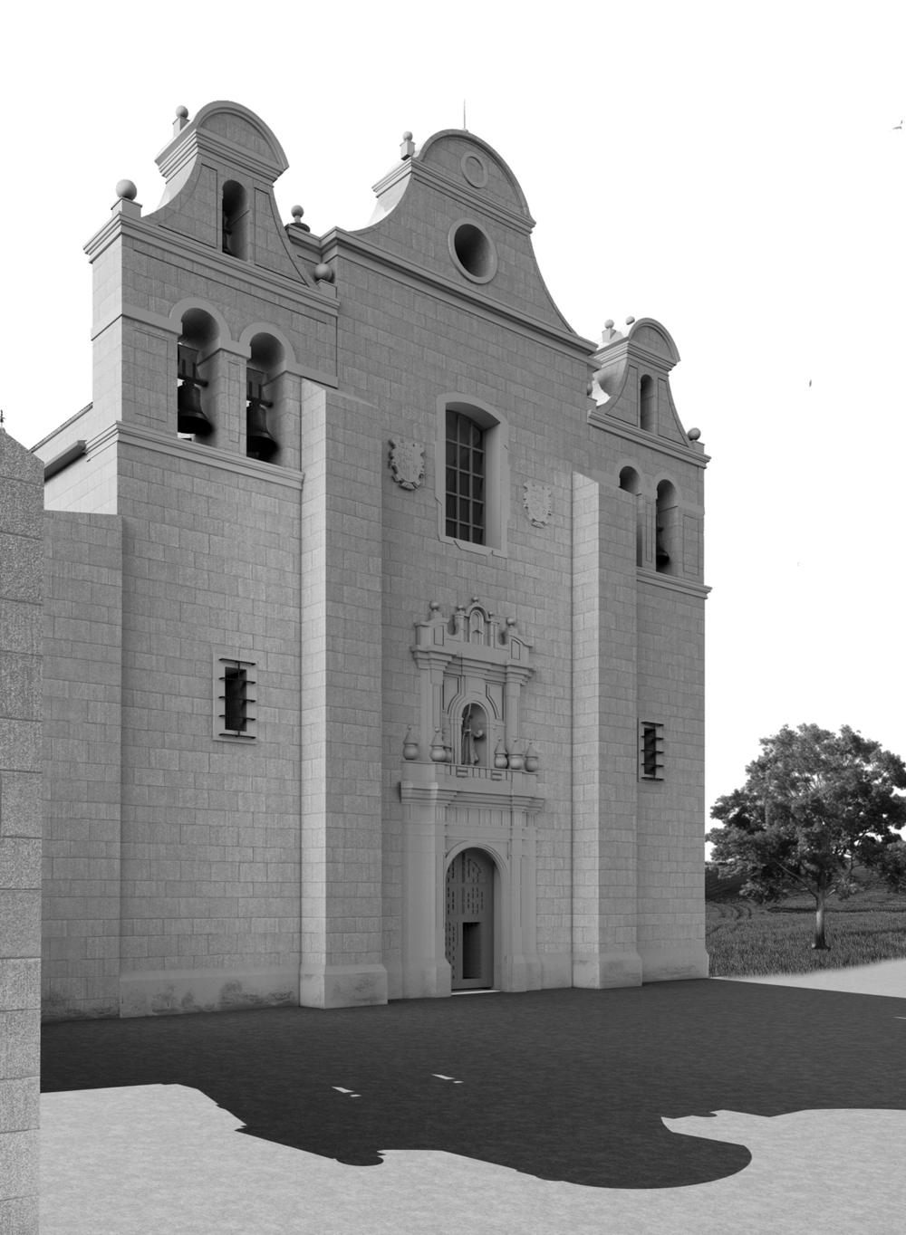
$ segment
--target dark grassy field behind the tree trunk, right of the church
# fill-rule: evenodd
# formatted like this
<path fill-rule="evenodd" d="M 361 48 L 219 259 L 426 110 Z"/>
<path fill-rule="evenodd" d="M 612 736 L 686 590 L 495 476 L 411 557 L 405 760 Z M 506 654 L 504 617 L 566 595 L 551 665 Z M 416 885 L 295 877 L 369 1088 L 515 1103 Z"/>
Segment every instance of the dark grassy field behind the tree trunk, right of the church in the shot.
<path fill-rule="evenodd" d="M 813 952 L 815 898 L 787 897 L 756 905 L 728 894 L 705 902 L 705 940 L 713 978 L 906 960 L 906 894 L 869 884 L 848 900 L 828 897 L 828 952 Z"/>

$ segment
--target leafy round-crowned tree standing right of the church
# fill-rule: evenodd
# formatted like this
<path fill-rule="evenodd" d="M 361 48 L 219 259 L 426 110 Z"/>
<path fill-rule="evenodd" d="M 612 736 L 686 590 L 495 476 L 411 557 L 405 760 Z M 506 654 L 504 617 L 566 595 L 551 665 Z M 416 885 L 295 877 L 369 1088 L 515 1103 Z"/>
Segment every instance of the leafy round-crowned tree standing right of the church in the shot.
<path fill-rule="evenodd" d="M 718 798 L 711 818 L 712 860 L 724 873 L 744 874 L 742 895 L 779 900 L 794 888 L 815 897 L 815 948 L 827 948 L 824 903 L 829 893 L 857 890 L 853 867 L 875 871 L 906 888 L 906 764 L 844 725 L 785 725 L 760 741 L 763 753 L 745 769 L 742 789 Z"/>

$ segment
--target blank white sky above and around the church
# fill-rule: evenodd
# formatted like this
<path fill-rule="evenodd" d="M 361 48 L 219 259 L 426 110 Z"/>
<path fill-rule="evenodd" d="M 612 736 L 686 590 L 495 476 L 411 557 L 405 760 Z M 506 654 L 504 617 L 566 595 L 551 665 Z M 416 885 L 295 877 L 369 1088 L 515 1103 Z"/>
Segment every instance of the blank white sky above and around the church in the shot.
<path fill-rule="evenodd" d="M 707 805 L 784 724 L 906 755 L 900 530 L 905 10 L 894 4 L 182 2 L 5 19 L 0 404 L 33 445 L 91 398 L 83 243 L 162 191 L 173 110 L 235 99 L 277 200 L 361 227 L 462 122 L 525 190 L 566 319 L 658 317 L 706 473 Z M 19 48 L 16 56 L 12 49 Z M 19 57 L 19 58 L 16 58 Z M 812 382 L 810 388 L 808 383 Z"/>

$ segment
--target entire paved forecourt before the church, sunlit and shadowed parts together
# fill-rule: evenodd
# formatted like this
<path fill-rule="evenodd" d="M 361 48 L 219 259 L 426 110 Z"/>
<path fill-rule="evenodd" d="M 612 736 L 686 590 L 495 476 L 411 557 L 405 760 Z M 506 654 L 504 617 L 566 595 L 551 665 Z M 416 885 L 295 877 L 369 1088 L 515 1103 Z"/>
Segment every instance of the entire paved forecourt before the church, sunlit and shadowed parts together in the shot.
<path fill-rule="evenodd" d="M 51 1025 L 42 1235 L 896 1235 L 905 982 Z"/>

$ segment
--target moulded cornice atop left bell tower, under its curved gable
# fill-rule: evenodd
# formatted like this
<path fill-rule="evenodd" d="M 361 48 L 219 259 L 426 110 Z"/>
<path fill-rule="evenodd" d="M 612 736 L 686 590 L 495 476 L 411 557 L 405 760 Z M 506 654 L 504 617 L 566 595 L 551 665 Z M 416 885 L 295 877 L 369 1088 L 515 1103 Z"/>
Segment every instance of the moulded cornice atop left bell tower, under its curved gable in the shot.
<path fill-rule="evenodd" d="M 94 262 L 104 249 L 124 236 L 162 249 L 164 253 L 179 258 L 180 262 L 188 259 L 206 266 L 220 278 L 229 274 L 231 284 L 241 282 L 258 293 L 263 291 L 267 296 L 272 296 L 274 293 L 288 296 L 308 309 L 321 311 L 328 317 L 339 315 L 340 306 L 332 284 L 328 284 L 331 289 L 330 293 L 316 291 L 309 288 L 302 275 L 297 283 L 294 279 L 287 278 L 286 274 L 268 270 L 263 266 L 252 266 L 250 262 L 242 262 L 226 253 L 218 253 L 208 245 L 201 245 L 189 236 L 183 236 L 145 219 L 129 219 L 121 214 L 112 215 L 84 246 L 89 261 Z"/>

